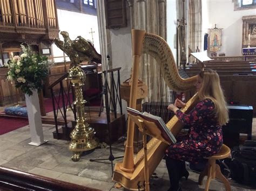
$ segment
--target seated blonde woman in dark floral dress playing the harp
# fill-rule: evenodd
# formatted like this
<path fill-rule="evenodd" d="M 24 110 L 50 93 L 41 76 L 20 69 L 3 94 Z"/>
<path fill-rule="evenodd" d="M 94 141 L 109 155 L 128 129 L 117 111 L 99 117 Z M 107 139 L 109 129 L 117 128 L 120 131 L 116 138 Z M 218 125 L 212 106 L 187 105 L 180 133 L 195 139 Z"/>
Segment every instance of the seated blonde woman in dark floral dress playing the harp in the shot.
<path fill-rule="evenodd" d="M 223 144 L 221 125 L 228 122 L 228 111 L 220 80 L 213 70 L 201 71 L 197 77 L 196 88 L 199 103 L 190 113 L 185 114 L 178 107 L 185 103 L 177 99 L 168 106 L 184 125 L 189 126 L 186 135 L 177 138 L 176 144 L 165 151 L 166 167 L 171 187 L 169 190 L 181 190 L 179 180 L 189 173 L 185 161 L 197 163 L 200 159 L 218 153 Z"/>

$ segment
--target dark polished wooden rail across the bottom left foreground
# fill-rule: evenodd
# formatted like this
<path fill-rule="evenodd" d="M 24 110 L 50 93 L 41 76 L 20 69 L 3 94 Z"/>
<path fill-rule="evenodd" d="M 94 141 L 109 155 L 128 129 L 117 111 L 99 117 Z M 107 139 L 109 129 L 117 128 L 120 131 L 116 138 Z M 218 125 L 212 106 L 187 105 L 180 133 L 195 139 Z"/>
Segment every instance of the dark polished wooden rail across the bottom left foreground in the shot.
<path fill-rule="evenodd" d="M 0 167 L 0 190 L 98 190 L 19 170 Z"/>

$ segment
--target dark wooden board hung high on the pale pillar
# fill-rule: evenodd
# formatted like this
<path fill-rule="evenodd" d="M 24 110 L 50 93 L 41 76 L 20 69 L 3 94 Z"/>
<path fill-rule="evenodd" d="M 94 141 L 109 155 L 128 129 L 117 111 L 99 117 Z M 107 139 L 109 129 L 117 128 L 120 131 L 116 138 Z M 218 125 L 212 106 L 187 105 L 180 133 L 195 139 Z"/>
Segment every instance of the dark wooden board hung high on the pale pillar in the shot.
<path fill-rule="evenodd" d="M 125 0 L 105 0 L 106 29 L 126 27 Z"/>

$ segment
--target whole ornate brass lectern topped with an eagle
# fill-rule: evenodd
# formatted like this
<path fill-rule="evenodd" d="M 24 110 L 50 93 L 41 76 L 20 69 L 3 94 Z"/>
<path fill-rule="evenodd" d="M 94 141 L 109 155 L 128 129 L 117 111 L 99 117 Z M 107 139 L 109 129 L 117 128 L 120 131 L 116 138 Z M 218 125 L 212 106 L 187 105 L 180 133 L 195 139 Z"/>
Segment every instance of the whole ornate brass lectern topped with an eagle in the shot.
<path fill-rule="evenodd" d="M 102 58 L 94 47 L 84 38 L 79 36 L 76 40 L 71 40 L 68 32 L 62 31 L 60 34 L 63 36 L 64 42 L 55 39 L 55 44 L 63 50 L 71 60 L 68 79 L 75 89 L 76 100 L 73 105 L 76 107 L 77 119 L 75 129 L 70 133 L 71 142 L 69 144 L 69 149 L 73 152 L 71 159 L 73 161 L 78 161 L 80 155 L 84 151 L 89 151 L 99 146 L 99 142 L 95 138 L 94 129 L 86 122 L 84 107 L 86 101 L 83 98 L 82 91 L 82 86 L 85 81 L 85 73 L 79 67 L 79 63 L 88 60 L 101 63 Z"/>

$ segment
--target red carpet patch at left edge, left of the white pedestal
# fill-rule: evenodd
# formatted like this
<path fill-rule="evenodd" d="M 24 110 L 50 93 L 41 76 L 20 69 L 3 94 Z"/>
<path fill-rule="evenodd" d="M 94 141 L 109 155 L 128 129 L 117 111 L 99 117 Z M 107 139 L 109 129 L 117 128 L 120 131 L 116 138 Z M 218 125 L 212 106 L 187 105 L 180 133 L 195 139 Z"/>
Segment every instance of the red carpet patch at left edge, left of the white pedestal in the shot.
<path fill-rule="evenodd" d="M 10 118 L 0 116 L 0 135 L 14 131 L 17 128 L 29 125 L 28 119 L 23 118 Z"/>

